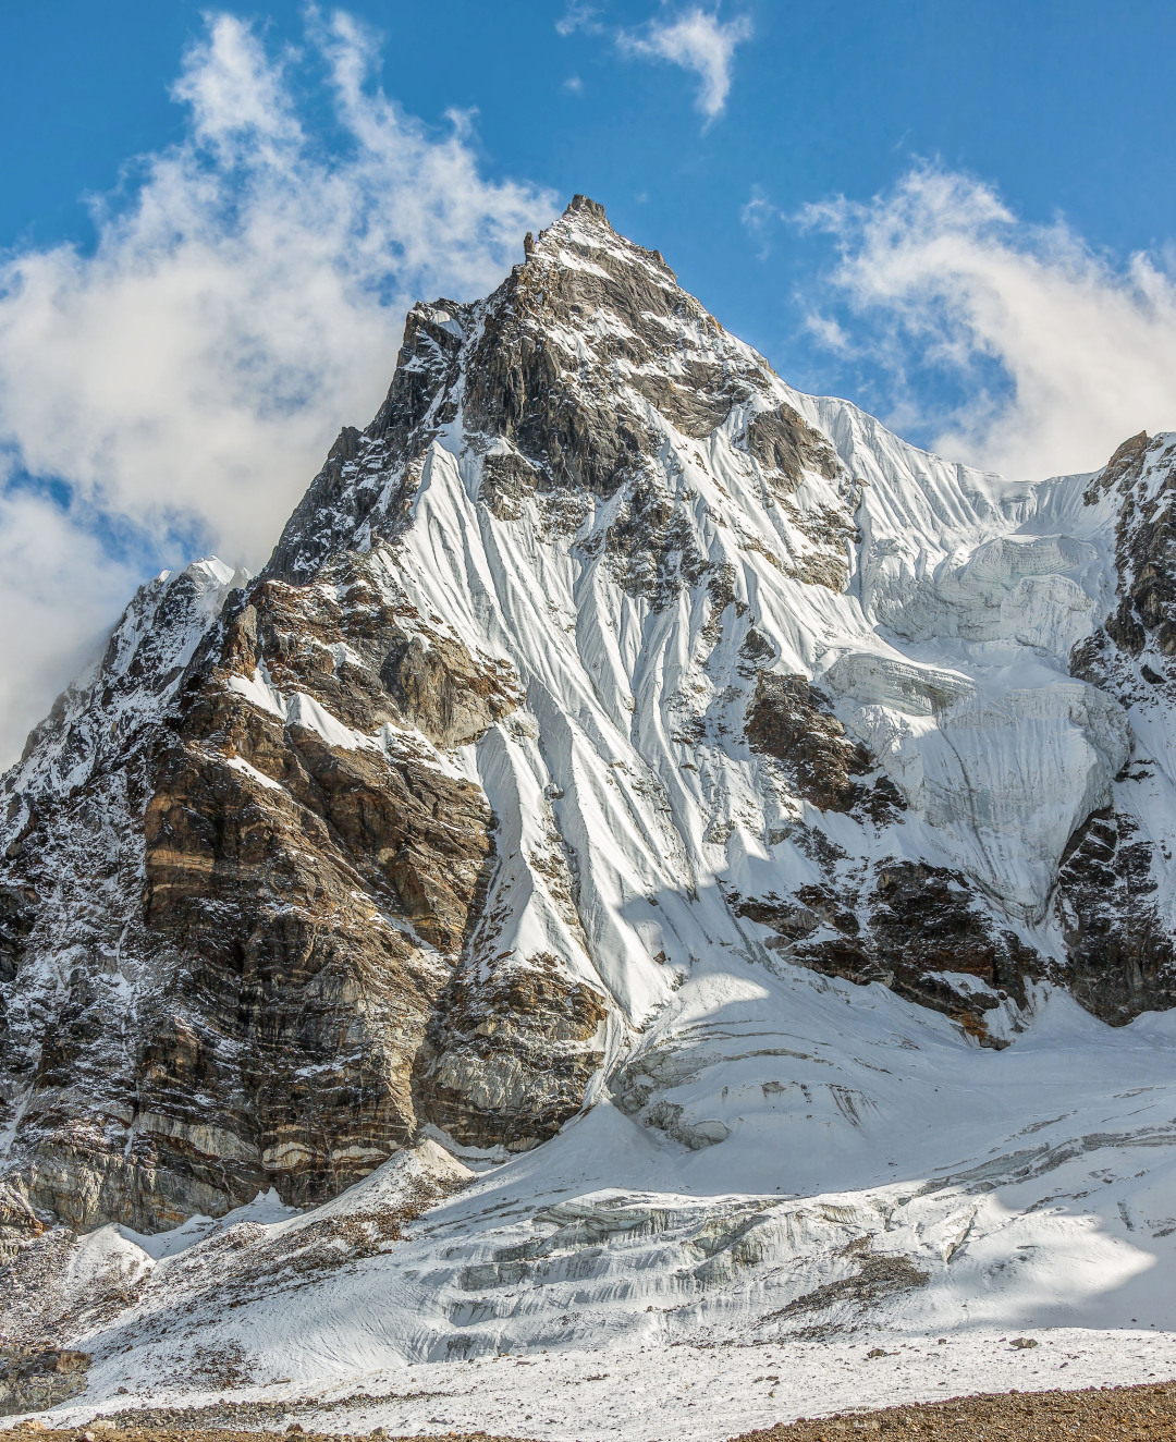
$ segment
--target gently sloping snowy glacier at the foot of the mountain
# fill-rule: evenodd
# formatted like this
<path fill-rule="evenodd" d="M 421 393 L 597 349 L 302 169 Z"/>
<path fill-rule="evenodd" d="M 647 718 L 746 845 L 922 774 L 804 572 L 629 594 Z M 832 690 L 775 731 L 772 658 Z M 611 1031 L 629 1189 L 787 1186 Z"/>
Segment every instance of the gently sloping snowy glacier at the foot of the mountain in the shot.
<path fill-rule="evenodd" d="M 91 1233 L 63 1301 L 95 1363 L 62 1420 L 130 1387 L 329 1429 L 343 1406 L 349 1429 L 709 1442 L 1176 1367 L 1166 1018 L 1111 1031 L 1054 995 L 994 1053 L 881 986 L 736 973 L 685 985 L 662 1027 L 674 1094 L 722 1145 L 602 1102 L 514 1161 L 468 1156 L 480 1175 L 399 1236 L 414 1185 L 463 1180 L 431 1141 L 316 1213 L 255 1206 L 179 1252 Z M 1032 1355 L 1007 1345 L 1026 1332 Z"/>

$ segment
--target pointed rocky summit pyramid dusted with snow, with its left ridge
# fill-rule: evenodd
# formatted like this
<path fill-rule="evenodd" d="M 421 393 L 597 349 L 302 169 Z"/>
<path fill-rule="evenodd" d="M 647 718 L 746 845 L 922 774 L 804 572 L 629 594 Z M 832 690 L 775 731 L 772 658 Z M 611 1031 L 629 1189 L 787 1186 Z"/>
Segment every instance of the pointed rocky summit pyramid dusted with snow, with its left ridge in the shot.
<path fill-rule="evenodd" d="M 389 489 L 379 477 L 416 476 L 454 424 L 476 451 L 499 441 L 517 457 L 519 485 L 605 496 L 643 469 L 659 425 L 702 437 L 736 399 L 760 395 L 755 404 L 772 408 L 784 397 L 767 362 L 682 290 L 659 251 L 617 234 L 597 202 L 576 196 L 527 238 L 525 255 L 481 301 L 412 307 L 383 405 L 366 431 L 339 437 L 268 574 L 301 580 L 373 529 L 395 535 L 414 482 Z M 516 461 L 490 463 L 503 466 Z M 840 555 L 840 541 L 833 548 Z"/>

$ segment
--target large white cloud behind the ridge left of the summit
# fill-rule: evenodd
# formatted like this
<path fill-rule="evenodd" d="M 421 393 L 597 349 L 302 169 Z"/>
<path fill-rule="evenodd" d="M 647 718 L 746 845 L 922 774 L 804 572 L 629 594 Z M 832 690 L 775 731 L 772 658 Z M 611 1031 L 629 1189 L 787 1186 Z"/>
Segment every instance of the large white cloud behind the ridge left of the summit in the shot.
<path fill-rule="evenodd" d="M 330 144 L 301 118 L 298 58 L 213 16 L 174 88 L 184 138 L 95 209 L 94 252 L 26 249 L 0 265 L 9 467 L 63 480 L 71 515 L 97 508 L 160 554 L 180 531 L 262 561 L 339 427 L 376 410 L 405 306 L 483 293 L 555 211 L 546 192 L 480 174 L 467 117 L 432 133 L 373 89 L 372 40 L 347 16 L 311 13 L 310 43 L 330 76 Z M 94 609 L 112 620 L 128 575 L 27 495 L 0 509 L 0 554 L 43 662 L 33 675 L 19 646 L 0 650 L 9 757 L 12 718 L 48 708 Z"/>

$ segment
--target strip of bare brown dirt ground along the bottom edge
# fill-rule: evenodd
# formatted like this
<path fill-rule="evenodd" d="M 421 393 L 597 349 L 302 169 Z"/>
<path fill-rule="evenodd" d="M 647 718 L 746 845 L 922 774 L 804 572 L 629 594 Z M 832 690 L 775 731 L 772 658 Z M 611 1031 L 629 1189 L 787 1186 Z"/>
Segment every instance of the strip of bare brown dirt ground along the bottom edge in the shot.
<path fill-rule="evenodd" d="M 0 1430 L 0 1442 L 336 1442 L 340 1433 L 241 1432 L 229 1428 L 169 1426 L 156 1413 L 150 1426 L 124 1415 L 115 1426 L 68 1428 L 45 1438 L 45 1423 Z M 1000 1392 L 953 1397 L 881 1412 L 804 1417 L 767 1430 L 745 1432 L 731 1442 L 842 1442 L 872 1433 L 918 1436 L 927 1442 L 1176 1442 L 1176 1381 L 1144 1387 L 1098 1387 L 1085 1392 Z M 346 1433 L 343 1433 L 346 1435 Z M 401 1442 L 383 1430 L 353 1435 L 349 1442 Z M 445 1432 L 412 1442 L 523 1442 L 487 1432 Z M 673 1442 L 666 1438 L 666 1442 Z"/>

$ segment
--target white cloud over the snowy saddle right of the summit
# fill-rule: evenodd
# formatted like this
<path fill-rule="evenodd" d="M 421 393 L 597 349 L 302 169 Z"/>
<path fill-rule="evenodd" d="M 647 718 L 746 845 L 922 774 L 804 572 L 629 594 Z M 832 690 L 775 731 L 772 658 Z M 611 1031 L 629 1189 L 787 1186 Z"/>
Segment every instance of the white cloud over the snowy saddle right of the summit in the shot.
<path fill-rule="evenodd" d="M 808 206 L 801 221 L 840 248 L 833 278 L 859 339 L 814 317 L 834 349 L 869 350 L 906 424 L 932 424 L 914 372 L 924 389 L 938 373 L 960 397 L 934 418 L 935 450 L 1036 477 L 1092 470 L 1128 435 L 1176 427 L 1170 264 L 1117 264 L 1065 222 L 1029 225 L 992 186 L 932 166 L 865 205 Z"/>

